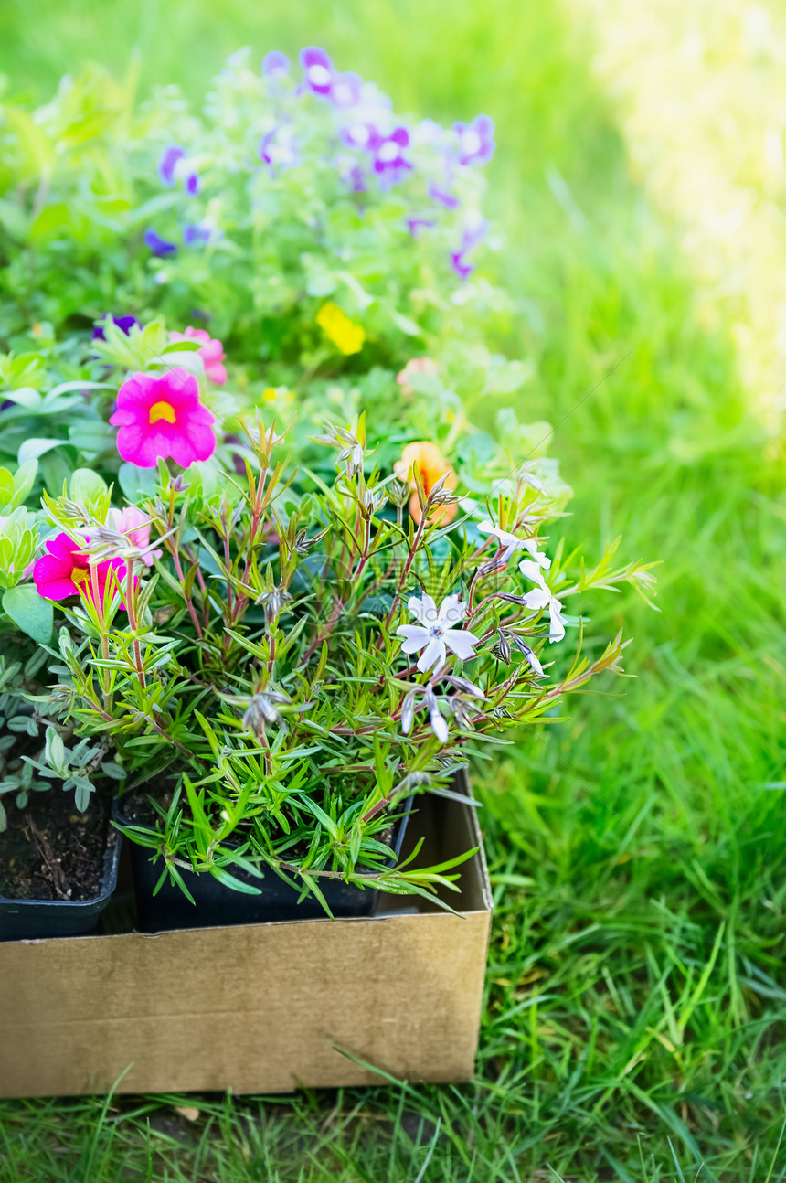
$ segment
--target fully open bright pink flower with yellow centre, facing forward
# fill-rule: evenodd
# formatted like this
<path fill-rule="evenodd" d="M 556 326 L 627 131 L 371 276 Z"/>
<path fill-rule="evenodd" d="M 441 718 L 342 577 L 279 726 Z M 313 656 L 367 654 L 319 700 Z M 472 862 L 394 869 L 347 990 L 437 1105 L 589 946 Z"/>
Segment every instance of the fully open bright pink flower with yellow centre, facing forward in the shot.
<path fill-rule="evenodd" d="M 215 416 L 200 402 L 193 374 L 181 367 L 155 377 L 131 374 L 117 394 L 110 424 L 119 427 L 117 451 L 139 468 L 155 468 L 170 455 L 187 468 L 215 452 Z"/>

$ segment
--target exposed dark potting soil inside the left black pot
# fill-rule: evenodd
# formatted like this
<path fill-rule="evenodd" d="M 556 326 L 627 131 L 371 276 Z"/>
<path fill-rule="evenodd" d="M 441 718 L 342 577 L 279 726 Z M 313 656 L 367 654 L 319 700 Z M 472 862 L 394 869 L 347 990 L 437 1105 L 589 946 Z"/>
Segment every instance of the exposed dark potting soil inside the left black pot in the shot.
<path fill-rule="evenodd" d="M 8 828 L 0 834 L 0 896 L 6 899 L 70 900 L 100 894 L 106 846 L 119 835 L 109 825 L 112 786 L 98 786 L 86 813 L 59 782 L 32 793 L 24 809 L 6 807 Z"/>

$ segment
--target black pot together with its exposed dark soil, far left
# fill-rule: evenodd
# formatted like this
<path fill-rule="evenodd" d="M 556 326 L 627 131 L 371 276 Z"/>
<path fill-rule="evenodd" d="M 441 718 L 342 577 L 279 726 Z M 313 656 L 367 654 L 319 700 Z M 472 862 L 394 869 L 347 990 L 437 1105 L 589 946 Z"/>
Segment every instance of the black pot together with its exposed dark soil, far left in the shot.
<path fill-rule="evenodd" d="M 0 834 L 0 939 L 91 931 L 117 877 L 119 835 L 110 826 L 112 784 L 97 787 L 87 810 L 58 782 L 6 807 Z"/>

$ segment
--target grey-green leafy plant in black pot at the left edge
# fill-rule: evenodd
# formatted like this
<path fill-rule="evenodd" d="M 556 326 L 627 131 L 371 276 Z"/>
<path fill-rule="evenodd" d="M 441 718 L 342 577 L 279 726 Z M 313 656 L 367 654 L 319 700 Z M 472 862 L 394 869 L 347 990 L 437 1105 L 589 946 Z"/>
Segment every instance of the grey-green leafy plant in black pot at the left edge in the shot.
<path fill-rule="evenodd" d="M 46 713 L 51 605 L 24 582 L 38 548 L 38 523 L 21 504 L 34 476 L 34 461 L 0 468 L 9 511 L 0 515 L 0 940 L 92 931 L 121 848 L 109 823 L 121 770 L 100 739 L 71 743 L 72 730 Z"/>

